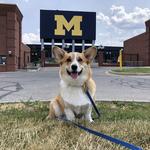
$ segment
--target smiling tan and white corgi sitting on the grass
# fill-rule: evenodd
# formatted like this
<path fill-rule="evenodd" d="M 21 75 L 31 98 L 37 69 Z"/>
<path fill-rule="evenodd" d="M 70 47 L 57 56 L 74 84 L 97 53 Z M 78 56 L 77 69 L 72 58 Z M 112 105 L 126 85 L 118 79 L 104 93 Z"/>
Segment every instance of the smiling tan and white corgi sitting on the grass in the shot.
<path fill-rule="evenodd" d="M 50 102 L 48 118 L 65 116 L 70 121 L 81 118 L 93 122 L 92 105 L 85 89 L 94 99 L 96 84 L 92 79 L 91 63 L 97 54 L 96 47 L 90 47 L 82 53 L 67 53 L 56 46 L 52 51 L 60 64 L 60 89 L 58 96 Z"/>

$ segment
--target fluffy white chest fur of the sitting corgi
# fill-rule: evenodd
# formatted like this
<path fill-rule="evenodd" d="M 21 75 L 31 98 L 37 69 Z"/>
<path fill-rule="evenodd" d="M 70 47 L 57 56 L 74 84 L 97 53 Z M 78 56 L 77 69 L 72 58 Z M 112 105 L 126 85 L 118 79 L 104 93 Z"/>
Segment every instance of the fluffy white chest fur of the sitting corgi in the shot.
<path fill-rule="evenodd" d="M 73 106 L 83 106 L 90 104 L 87 95 L 81 87 L 67 86 L 61 83 L 60 94 L 65 102 Z"/>

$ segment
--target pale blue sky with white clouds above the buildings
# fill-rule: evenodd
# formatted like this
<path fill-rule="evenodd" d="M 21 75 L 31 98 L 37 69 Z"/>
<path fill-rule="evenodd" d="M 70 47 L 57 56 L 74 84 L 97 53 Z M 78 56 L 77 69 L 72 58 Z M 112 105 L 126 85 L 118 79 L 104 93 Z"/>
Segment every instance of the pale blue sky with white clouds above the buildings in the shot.
<path fill-rule="evenodd" d="M 40 9 L 96 12 L 96 45 L 123 46 L 145 32 L 150 0 L 0 0 L 17 4 L 23 14 L 22 40 L 40 42 Z"/>

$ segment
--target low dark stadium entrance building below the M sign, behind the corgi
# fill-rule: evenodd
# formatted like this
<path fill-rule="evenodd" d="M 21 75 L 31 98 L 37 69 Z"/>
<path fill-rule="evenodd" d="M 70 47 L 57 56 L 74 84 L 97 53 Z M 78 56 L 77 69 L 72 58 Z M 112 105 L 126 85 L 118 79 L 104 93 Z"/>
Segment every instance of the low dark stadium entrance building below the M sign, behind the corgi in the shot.
<path fill-rule="evenodd" d="M 62 47 L 62 45 L 57 45 Z M 28 44 L 28 47 L 31 49 L 31 62 L 37 63 L 41 60 L 41 45 L 40 44 Z M 85 46 L 87 49 L 90 46 Z M 96 46 L 98 50 L 98 54 L 96 56 L 95 62 L 98 63 L 99 66 L 117 66 L 118 65 L 118 56 L 119 51 L 123 49 L 123 47 L 116 46 Z M 44 45 L 44 66 L 58 66 L 54 63 L 54 59 L 52 58 L 51 53 L 52 45 L 46 44 Z M 72 45 L 67 45 L 64 48 L 67 52 L 72 51 Z M 82 52 L 82 45 L 75 46 L 76 52 Z"/>

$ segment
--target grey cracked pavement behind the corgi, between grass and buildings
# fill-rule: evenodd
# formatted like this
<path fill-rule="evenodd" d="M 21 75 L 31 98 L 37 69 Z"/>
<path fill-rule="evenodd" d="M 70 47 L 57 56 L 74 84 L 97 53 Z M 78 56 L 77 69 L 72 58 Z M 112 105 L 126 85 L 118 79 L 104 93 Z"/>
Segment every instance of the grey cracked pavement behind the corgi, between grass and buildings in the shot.
<path fill-rule="evenodd" d="M 59 68 L 0 73 L 0 102 L 47 101 L 59 92 Z M 150 76 L 109 74 L 110 67 L 94 67 L 99 101 L 150 102 Z"/>

